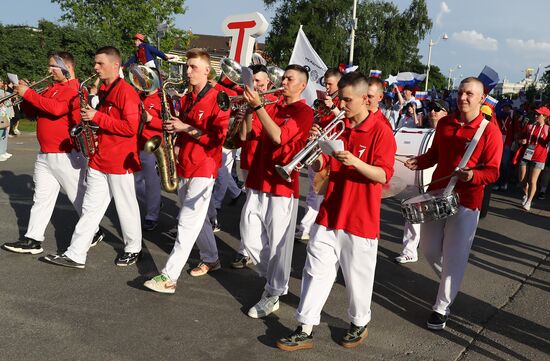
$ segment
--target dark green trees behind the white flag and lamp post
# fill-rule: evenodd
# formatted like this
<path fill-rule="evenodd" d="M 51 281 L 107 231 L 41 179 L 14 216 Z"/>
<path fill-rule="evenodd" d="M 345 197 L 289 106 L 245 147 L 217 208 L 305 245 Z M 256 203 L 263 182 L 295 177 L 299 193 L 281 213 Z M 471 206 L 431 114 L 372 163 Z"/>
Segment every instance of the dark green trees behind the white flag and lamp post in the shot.
<path fill-rule="evenodd" d="M 309 41 L 328 66 L 347 63 L 353 0 L 264 0 L 276 8 L 266 50 L 273 60 L 288 63 L 296 33 L 303 26 Z M 380 69 L 384 75 L 401 71 L 425 73 L 420 62 L 419 42 L 432 28 L 425 0 L 411 0 L 400 12 L 395 4 L 383 0 L 359 1 L 354 63 L 359 70 Z M 330 34 L 330 35 L 329 35 Z M 446 86 L 437 67 L 430 70 L 430 87 Z"/>

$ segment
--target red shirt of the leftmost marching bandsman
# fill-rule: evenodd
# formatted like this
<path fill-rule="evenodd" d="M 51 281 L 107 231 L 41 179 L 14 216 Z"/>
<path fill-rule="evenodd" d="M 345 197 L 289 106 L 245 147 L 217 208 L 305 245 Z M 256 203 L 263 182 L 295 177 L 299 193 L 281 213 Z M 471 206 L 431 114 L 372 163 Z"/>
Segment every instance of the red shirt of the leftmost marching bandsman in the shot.
<path fill-rule="evenodd" d="M 75 82 L 78 80 L 54 83 L 42 94 L 29 88 L 23 96 L 23 111 L 37 117 L 36 137 L 43 153 L 70 153 L 74 149 L 69 130 L 80 123 Z"/>

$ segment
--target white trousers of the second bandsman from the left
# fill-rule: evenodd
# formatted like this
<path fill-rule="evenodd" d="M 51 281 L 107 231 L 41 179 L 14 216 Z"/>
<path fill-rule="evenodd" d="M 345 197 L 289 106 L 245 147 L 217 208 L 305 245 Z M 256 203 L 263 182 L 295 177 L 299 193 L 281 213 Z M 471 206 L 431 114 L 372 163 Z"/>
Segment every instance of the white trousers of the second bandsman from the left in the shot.
<path fill-rule="evenodd" d="M 87 183 L 82 203 L 82 216 L 76 224 L 71 245 L 65 251 L 65 255 L 75 262 L 86 263 L 92 239 L 111 203 L 111 198 L 115 200 L 124 252 L 140 252 L 141 218 L 136 199 L 134 174 L 107 174 L 88 168 Z"/>

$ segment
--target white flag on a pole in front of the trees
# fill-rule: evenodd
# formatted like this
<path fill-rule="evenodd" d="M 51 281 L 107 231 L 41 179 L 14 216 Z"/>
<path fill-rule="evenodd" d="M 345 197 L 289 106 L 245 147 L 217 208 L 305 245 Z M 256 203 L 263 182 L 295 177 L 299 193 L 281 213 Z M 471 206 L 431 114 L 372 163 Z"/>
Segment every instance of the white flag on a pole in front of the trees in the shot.
<path fill-rule="evenodd" d="M 313 105 L 313 101 L 317 99 L 317 90 L 325 90 L 321 81 L 327 71 L 327 66 L 311 46 L 301 26 L 298 31 L 298 36 L 296 36 L 296 43 L 294 44 L 294 50 L 292 50 L 292 55 L 290 56 L 288 64 L 298 64 L 309 69 L 309 83 L 302 93 L 302 98 L 304 98 L 310 106 Z"/>

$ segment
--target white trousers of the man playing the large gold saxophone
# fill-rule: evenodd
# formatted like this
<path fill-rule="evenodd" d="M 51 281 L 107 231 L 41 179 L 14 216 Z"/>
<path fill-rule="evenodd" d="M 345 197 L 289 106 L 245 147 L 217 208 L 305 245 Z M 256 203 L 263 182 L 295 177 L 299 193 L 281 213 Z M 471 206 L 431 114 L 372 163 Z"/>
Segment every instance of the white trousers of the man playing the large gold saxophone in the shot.
<path fill-rule="evenodd" d="M 197 242 L 203 262 L 218 260 L 218 247 L 212 231 L 212 224 L 206 214 L 212 197 L 214 178 L 182 178 L 178 185 L 181 203 L 178 215 L 178 236 L 162 273 L 174 282 L 189 259 L 193 245 Z"/>

